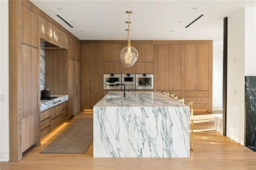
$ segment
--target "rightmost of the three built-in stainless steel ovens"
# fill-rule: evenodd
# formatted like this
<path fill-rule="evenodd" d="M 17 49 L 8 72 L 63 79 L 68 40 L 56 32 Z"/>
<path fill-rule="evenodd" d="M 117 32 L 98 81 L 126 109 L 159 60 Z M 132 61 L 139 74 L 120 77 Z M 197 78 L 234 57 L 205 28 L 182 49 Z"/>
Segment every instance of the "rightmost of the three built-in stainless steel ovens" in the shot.
<path fill-rule="evenodd" d="M 136 90 L 153 90 L 153 74 L 136 74 Z"/>

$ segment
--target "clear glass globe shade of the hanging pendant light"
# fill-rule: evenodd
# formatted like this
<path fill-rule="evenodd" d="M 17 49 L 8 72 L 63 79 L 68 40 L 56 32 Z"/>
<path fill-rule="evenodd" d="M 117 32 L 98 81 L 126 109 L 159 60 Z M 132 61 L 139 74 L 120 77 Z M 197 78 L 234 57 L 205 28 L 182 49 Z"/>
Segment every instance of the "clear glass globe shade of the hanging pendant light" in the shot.
<path fill-rule="evenodd" d="M 124 47 L 120 53 L 121 62 L 124 67 L 132 67 L 138 59 L 138 51 L 134 47 Z"/>

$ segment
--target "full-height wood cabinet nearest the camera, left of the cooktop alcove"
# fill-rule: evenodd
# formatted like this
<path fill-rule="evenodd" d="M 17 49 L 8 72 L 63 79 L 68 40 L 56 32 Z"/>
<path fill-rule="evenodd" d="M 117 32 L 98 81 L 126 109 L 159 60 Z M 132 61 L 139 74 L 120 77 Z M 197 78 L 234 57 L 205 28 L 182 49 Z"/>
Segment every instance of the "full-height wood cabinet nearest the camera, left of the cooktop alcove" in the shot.
<path fill-rule="evenodd" d="M 38 141 L 38 36 L 37 14 L 21 5 L 22 152 Z"/>

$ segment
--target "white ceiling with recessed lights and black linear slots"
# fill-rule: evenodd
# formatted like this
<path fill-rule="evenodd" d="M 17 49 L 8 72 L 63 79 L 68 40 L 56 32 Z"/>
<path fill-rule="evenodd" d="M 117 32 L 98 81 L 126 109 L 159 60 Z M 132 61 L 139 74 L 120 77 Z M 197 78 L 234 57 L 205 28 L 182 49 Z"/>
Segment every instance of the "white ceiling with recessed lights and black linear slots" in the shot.
<path fill-rule="evenodd" d="M 126 40 L 128 14 L 125 11 L 131 10 L 131 40 L 214 40 L 221 43 L 223 18 L 244 7 L 256 6 L 255 0 L 30 1 L 80 40 Z"/>

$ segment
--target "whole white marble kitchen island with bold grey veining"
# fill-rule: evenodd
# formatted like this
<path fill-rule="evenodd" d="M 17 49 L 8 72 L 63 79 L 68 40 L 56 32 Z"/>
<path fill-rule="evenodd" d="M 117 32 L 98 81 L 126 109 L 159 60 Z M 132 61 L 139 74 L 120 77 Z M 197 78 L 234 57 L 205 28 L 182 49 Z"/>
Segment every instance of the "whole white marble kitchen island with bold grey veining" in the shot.
<path fill-rule="evenodd" d="M 93 112 L 94 157 L 190 156 L 189 107 L 162 93 L 109 92 Z"/>

